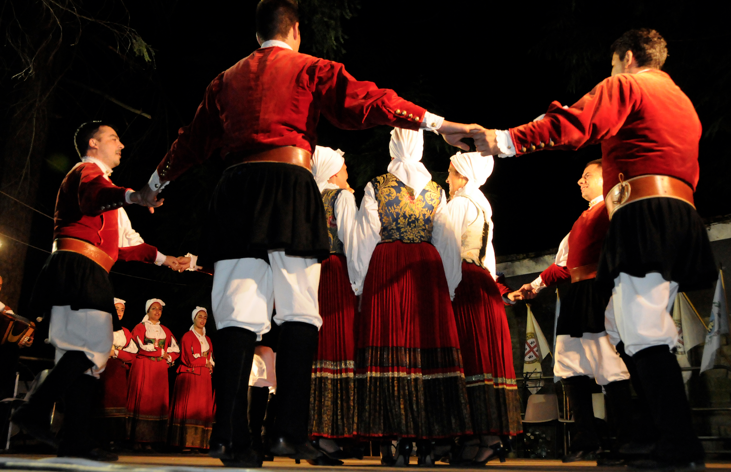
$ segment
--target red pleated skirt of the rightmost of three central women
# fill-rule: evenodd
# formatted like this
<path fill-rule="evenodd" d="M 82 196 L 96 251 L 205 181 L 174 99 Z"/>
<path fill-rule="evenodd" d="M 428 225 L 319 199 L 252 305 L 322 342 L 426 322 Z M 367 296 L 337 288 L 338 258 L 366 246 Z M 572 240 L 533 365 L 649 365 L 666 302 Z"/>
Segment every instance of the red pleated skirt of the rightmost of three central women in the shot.
<path fill-rule="evenodd" d="M 462 281 L 452 306 L 474 433 L 520 433 L 523 427 L 510 330 L 502 296 L 490 272 L 463 261 Z"/>

